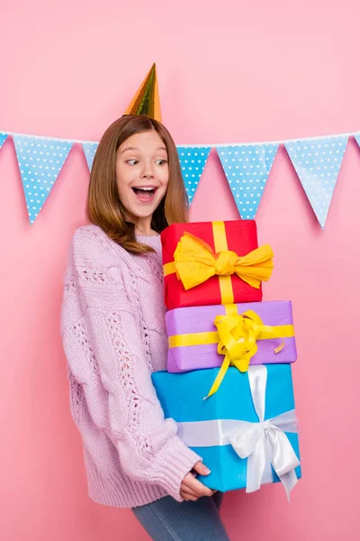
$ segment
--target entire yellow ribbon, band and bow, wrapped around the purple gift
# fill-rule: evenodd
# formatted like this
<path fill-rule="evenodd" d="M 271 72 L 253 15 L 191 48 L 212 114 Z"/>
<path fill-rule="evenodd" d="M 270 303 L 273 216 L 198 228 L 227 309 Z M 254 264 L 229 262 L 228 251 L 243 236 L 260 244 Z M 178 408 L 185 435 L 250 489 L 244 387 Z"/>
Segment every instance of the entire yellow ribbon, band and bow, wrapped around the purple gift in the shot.
<path fill-rule="evenodd" d="M 294 335 L 293 325 L 267 326 L 253 310 L 237 313 L 236 305 L 225 307 L 227 314 L 216 316 L 214 325 L 218 331 L 189 333 L 168 337 L 169 348 L 187 345 L 218 344 L 218 353 L 225 355 L 215 381 L 206 398 L 211 397 L 220 387 L 229 366 L 247 371 L 251 358 L 257 353 L 257 340 L 289 338 Z M 279 353 L 284 341 L 275 348 Z"/>

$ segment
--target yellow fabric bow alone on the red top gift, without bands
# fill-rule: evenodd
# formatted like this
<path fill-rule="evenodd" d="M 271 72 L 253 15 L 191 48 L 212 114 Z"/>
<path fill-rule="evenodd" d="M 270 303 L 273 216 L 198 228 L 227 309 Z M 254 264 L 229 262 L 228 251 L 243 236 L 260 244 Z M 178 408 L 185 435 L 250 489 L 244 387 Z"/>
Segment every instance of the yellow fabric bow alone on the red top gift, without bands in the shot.
<path fill-rule="evenodd" d="M 253 288 L 259 289 L 260 283 L 269 280 L 271 276 L 273 257 L 269 244 L 239 257 L 229 250 L 215 253 L 202 239 L 184 233 L 174 253 L 174 266 L 177 278 L 183 282 L 185 290 L 202 284 L 212 276 L 229 276 L 234 273 Z"/>

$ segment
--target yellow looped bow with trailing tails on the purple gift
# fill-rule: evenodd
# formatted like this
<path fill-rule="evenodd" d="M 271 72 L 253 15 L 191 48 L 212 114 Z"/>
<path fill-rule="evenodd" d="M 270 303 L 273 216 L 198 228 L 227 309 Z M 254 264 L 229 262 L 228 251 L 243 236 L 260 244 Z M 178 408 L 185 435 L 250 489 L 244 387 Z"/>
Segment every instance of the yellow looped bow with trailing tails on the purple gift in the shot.
<path fill-rule="evenodd" d="M 225 355 L 225 358 L 206 399 L 219 389 L 230 365 L 236 366 L 239 371 L 247 371 L 251 358 L 257 353 L 257 340 L 279 338 L 279 335 L 282 338 L 293 336 L 292 325 L 266 326 L 253 310 L 247 310 L 241 315 L 216 316 L 214 324 L 220 338 L 218 353 Z M 275 348 L 275 353 L 283 348 L 284 340 Z"/>

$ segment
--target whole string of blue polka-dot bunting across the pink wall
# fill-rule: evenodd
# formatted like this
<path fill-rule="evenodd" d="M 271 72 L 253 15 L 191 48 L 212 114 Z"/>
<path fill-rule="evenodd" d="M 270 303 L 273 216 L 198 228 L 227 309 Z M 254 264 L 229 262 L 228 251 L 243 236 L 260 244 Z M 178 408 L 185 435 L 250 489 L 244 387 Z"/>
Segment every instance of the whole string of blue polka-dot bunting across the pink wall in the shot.
<path fill-rule="evenodd" d="M 82 145 L 87 167 L 91 171 L 99 143 L 0 131 L 0 149 L 9 135 L 14 140 L 32 225 L 58 179 L 73 144 Z M 243 219 L 253 219 L 257 214 L 276 152 L 279 146 L 284 144 L 323 229 L 347 141 L 351 136 L 355 137 L 360 147 L 360 132 L 355 132 L 277 142 L 214 143 L 197 146 L 184 144 L 176 145 L 176 149 L 190 204 L 210 151 L 216 149 L 240 216 Z"/>

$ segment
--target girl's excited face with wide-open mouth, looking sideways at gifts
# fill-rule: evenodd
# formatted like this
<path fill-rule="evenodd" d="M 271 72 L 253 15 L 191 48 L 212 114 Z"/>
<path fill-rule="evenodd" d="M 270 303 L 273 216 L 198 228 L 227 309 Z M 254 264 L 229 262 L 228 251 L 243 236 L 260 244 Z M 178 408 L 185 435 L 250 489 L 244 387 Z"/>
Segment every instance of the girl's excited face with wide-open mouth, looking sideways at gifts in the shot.
<path fill-rule="evenodd" d="M 135 133 L 116 153 L 116 183 L 127 219 L 147 224 L 166 195 L 169 171 L 165 143 L 155 130 Z"/>

